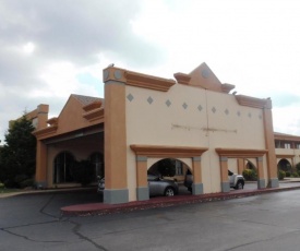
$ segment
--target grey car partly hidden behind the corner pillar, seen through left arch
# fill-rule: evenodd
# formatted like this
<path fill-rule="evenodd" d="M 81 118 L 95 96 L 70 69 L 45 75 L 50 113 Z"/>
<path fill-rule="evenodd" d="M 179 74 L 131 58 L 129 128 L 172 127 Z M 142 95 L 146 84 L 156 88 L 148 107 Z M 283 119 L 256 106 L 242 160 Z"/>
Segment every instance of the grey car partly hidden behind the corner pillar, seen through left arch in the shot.
<path fill-rule="evenodd" d="M 147 175 L 149 196 L 173 196 L 178 194 L 178 183 L 173 180 L 166 180 L 156 175 Z M 105 178 L 98 177 L 98 193 L 105 190 Z"/>

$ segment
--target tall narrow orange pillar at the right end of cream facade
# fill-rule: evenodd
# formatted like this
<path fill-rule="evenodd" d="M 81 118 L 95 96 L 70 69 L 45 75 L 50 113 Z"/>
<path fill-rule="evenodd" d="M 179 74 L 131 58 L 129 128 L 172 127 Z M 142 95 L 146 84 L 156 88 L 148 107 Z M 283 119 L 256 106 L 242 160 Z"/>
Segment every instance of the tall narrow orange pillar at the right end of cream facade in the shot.
<path fill-rule="evenodd" d="M 266 162 L 267 162 L 267 178 L 269 188 L 278 188 L 278 176 L 277 176 L 277 159 L 275 154 L 275 140 L 273 130 L 273 118 L 272 118 L 272 101 L 268 99 L 265 108 L 263 109 L 264 115 L 264 130 L 265 130 L 265 145 L 267 150 Z"/>

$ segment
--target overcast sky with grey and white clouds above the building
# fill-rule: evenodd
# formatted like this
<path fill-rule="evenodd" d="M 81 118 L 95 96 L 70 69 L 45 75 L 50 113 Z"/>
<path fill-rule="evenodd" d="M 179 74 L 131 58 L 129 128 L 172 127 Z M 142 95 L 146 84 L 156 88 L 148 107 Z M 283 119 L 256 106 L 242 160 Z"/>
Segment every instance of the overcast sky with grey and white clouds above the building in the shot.
<path fill-rule="evenodd" d="M 173 79 L 206 62 L 300 135 L 299 31 L 299 0 L 0 0 L 0 144 L 39 104 L 52 118 L 71 94 L 104 97 L 110 63 Z"/>

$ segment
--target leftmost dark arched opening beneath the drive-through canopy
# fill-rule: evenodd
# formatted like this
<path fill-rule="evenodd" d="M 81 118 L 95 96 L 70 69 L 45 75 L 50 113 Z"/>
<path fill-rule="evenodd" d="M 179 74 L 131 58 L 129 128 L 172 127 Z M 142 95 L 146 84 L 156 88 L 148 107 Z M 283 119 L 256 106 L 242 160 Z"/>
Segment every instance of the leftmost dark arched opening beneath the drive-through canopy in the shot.
<path fill-rule="evenodd" d="M 69 152 L 61 152 L 55 158 L 53 183 L 74 182 L 72 166 L 74 156 Z"/>

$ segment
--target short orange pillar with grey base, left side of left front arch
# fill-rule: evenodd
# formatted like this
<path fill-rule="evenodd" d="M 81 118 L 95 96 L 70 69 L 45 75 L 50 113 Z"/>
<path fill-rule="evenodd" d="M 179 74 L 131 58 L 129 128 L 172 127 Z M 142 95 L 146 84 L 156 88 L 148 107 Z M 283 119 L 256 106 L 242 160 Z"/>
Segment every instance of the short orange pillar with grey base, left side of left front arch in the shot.
<path fill-rule="evenodd" d="M 137 201 L 149 200 L 147 182 L 147 157 L 136 156 L 136 199 Z"/>

